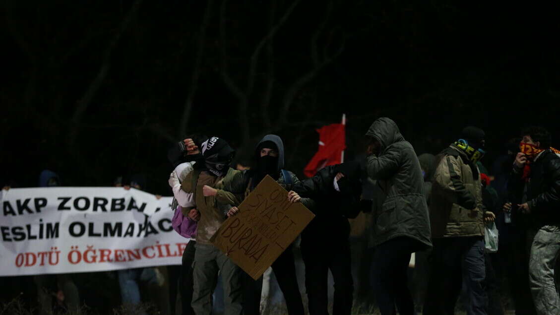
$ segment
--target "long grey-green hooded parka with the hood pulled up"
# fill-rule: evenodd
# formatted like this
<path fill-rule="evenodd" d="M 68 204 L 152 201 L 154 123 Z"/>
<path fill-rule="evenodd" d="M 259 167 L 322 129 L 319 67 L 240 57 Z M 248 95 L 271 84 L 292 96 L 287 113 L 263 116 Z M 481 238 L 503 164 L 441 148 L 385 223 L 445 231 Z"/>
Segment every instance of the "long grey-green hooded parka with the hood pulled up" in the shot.
<path fill-rule="evenodd" d="M 409 237 L 431 247 L 424 180 L 414 148 L 391 119 L 377 119 L 366 136 L 380 143 L 379 155 L 367 156 L 366 170 L 377 180 L 381 200 L 374 202 L 372 245 Z"/>

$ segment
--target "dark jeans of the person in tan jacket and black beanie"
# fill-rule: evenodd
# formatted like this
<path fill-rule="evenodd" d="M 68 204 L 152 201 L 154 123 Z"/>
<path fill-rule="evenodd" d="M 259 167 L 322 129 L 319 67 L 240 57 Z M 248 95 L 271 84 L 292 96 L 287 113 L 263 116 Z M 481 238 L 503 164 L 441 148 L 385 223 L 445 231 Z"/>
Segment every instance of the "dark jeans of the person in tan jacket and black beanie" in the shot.
<path fill-rule="evenodd" d="M 433 239 L 430 282 L 424 314 L 454 314 L 465 282 L 467 314 L 486 314 L 486 267 L 482 237 Z"/>

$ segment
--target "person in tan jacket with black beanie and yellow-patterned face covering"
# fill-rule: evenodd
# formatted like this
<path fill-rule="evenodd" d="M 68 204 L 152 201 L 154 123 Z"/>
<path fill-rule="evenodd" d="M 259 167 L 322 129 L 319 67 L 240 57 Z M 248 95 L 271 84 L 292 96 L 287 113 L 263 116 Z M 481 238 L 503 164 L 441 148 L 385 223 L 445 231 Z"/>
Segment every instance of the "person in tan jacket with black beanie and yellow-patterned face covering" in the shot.
<path fill-rule="evenodd" d="M 458 141 L 436 156 L 430 201 L 432 266 L 424 314 L 454 314 L 461 280 L 467 314 L 487 313 L 484 224 L 493 221 L 494 214 L 483 205 L 477 166 L 485 153 L 484 136 L 482 129 L 466 127 Z"/>

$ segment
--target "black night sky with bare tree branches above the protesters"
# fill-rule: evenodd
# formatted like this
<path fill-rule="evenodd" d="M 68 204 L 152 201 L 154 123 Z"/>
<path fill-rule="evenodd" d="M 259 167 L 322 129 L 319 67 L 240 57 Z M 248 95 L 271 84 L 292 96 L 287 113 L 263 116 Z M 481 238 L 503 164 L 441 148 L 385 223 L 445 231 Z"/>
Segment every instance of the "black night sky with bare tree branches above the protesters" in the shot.
<path fill-rule="evenodd" d="M 172 143 L 267 133 L 302 176 L 315 128 L 347 114 L 347 156 L 382 115 L 418 154 L 473 124 L 491 165 L 541 124 L 559 144 L 558 8 L 456 1 L 16 1 L 0 4 L 2 173 L 34 187 L 144 173 L 169 195 Z"/>

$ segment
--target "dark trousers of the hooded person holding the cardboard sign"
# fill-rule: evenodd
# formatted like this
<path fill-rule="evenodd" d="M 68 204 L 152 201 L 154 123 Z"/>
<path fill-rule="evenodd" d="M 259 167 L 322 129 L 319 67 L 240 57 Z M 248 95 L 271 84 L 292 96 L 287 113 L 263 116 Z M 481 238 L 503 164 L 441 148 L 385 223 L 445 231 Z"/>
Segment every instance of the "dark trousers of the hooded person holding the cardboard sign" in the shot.
<path fill-rule="evenodd" d="M 278 286 L 282 290 L 282 294 L 284 294 L 288 314 L 303 315 L 304 303 L 301 301 L 300 288 L 297 285 L 296 266 L 293 262 L 291 245 L 272 263 L 272 271 L 274 271 Z M 243 314 L 259 314 L 263 277 L 261 276 L 259 280 L 253 280 L 246 272 L 242 274 Z"/>

